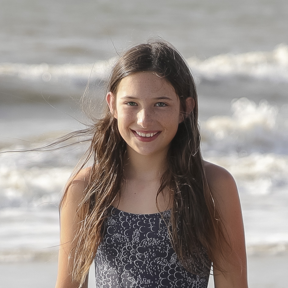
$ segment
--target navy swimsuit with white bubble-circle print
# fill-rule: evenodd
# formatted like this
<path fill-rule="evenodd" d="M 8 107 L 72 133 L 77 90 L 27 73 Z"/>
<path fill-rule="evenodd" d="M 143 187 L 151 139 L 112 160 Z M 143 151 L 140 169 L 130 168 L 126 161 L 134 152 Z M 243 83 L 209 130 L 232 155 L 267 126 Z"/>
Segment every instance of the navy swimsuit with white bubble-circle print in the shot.
<path fill-rule="evenodd" d="M 171 210 L 162 215 L 169 222 Z M 210 271 L 206 272 L 199 276 L 183 268 L 160 213 L 111 208 L 95 257 L 97 288 L 207 288 Z"/>

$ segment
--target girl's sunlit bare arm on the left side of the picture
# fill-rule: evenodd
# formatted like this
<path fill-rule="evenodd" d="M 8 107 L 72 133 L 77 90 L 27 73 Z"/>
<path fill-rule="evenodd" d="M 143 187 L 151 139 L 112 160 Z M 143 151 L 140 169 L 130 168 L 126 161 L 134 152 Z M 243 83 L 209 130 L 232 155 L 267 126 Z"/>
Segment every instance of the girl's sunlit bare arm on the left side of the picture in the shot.
<path fill-rule="evenodd" d="M 83 169 L 66 187 L 66 197 L 60 209 L 60 247 L 58 258 L 58 275 L 55 288 L 76 288 L 79 283 L 72 283 L 70 267 L 73 265 L 73 253 L 77 243 L 76 232 L 81 217 L 79 203 L 83 198 L 83 191 L 87 187 L 89 169 Z M 70 256 L 70 258 L 69 258 Z M 72 256 L 72 257 L 71 257 Z M 87 280 L 83 288 L 87 287 Z"/>

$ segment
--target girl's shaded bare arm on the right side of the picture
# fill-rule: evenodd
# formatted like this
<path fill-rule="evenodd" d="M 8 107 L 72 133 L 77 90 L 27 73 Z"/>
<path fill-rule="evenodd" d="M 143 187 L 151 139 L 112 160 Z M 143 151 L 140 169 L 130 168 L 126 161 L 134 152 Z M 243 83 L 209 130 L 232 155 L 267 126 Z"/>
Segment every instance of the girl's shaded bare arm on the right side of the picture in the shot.
<path fill-rule="evenodd" d="M 213 269 L 216 288 L 247 288 L 247 259 L 242 211 L 236 183 L 224 168 L 205 162 L 205 173 L 215 205 L 218 208 L 224 233 L 231 249 L 226 249 L 224 270 Z"/>

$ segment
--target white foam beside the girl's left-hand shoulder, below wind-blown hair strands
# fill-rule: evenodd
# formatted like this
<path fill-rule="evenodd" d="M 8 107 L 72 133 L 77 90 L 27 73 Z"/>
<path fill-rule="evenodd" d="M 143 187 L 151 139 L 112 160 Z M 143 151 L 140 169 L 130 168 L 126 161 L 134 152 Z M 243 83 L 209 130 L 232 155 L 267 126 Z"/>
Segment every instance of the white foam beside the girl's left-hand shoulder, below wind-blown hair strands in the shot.
<path fill-rule="evenodd" d="M 57 205 L 78 153 L 74 149 L 71 154 L 60 150 L 0 154 L 0 207 Z"/>

